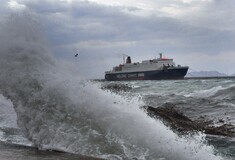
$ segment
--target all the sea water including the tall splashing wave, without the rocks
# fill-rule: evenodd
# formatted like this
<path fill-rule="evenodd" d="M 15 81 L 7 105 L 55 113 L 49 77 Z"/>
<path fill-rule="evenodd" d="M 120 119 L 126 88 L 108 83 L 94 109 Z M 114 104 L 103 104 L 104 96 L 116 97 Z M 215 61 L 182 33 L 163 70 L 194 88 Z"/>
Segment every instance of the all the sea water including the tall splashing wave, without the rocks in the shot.
<path fill-rule="evenodd" d="M 234 138 L 178 135 L 140 109 L 172 103 L 234 124 L 234 79 L 116 82 L 133 89 L 115 93 L 56 58 L 42 35 L 27 14 L 0 28 L 0 159 L 235 159 Z"/>

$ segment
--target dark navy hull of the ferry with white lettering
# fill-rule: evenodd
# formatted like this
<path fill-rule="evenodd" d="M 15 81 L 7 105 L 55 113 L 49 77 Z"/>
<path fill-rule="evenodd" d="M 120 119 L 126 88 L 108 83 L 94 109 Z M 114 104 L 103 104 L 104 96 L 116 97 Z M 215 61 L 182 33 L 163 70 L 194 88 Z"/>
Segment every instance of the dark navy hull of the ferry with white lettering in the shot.
<path fill-rule="evenodd" d="M 124 80 L 174 80 L 183 79 L 187 74 L 188 67 L 175 67 L 154 71 L 106 73 L 108 81 Z"/>

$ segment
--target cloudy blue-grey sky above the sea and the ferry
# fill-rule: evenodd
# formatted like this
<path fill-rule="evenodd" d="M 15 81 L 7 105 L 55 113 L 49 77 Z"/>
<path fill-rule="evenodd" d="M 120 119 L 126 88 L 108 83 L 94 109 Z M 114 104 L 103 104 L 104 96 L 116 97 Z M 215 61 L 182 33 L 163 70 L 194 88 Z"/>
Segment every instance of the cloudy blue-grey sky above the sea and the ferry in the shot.
<path fill-rule="evenodd" d="M 235 73 L 234 0 L 1 0 L 0 22 L 26 9 L 55 56 L 89 78 L 103 78 L 122 54 L 141 61 L 160 52 L 190 71 Z"/>

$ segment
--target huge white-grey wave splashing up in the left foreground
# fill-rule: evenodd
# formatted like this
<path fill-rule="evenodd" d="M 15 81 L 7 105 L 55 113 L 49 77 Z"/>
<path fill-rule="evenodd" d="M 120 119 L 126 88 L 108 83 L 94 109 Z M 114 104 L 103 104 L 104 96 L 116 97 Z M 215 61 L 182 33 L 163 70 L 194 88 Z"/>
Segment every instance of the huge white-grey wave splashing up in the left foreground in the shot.
<path fill-rule="evenodd" d="M 178 137 L 137 99 L 81 80 L 53 57 L 36 26 L 22 13 L 0 32 L 0 91 L 35 146 L 108 159 L 222 159 L 204 135 Z"/>

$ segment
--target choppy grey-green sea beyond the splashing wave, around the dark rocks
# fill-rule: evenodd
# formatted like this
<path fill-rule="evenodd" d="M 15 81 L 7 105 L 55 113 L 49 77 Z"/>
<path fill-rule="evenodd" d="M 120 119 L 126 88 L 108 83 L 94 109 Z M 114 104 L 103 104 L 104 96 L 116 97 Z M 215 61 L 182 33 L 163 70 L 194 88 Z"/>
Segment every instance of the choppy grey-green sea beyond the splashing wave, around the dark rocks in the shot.
<path fill-rule="evenodd" d="M 139 97 L 144 105 L 163 107 L 171 104 L 190 119 L 204 117 L 214 126 L 222 120 L 235 124 L 235 79 L 186 79 L 169 81 L 121 81 L 103 82 L 131 86 L 124 97 Z M 204 143 L 213 147 L 215 153 L 225 159 L 235 159 L 235 138 L 204 135 Z"/>

